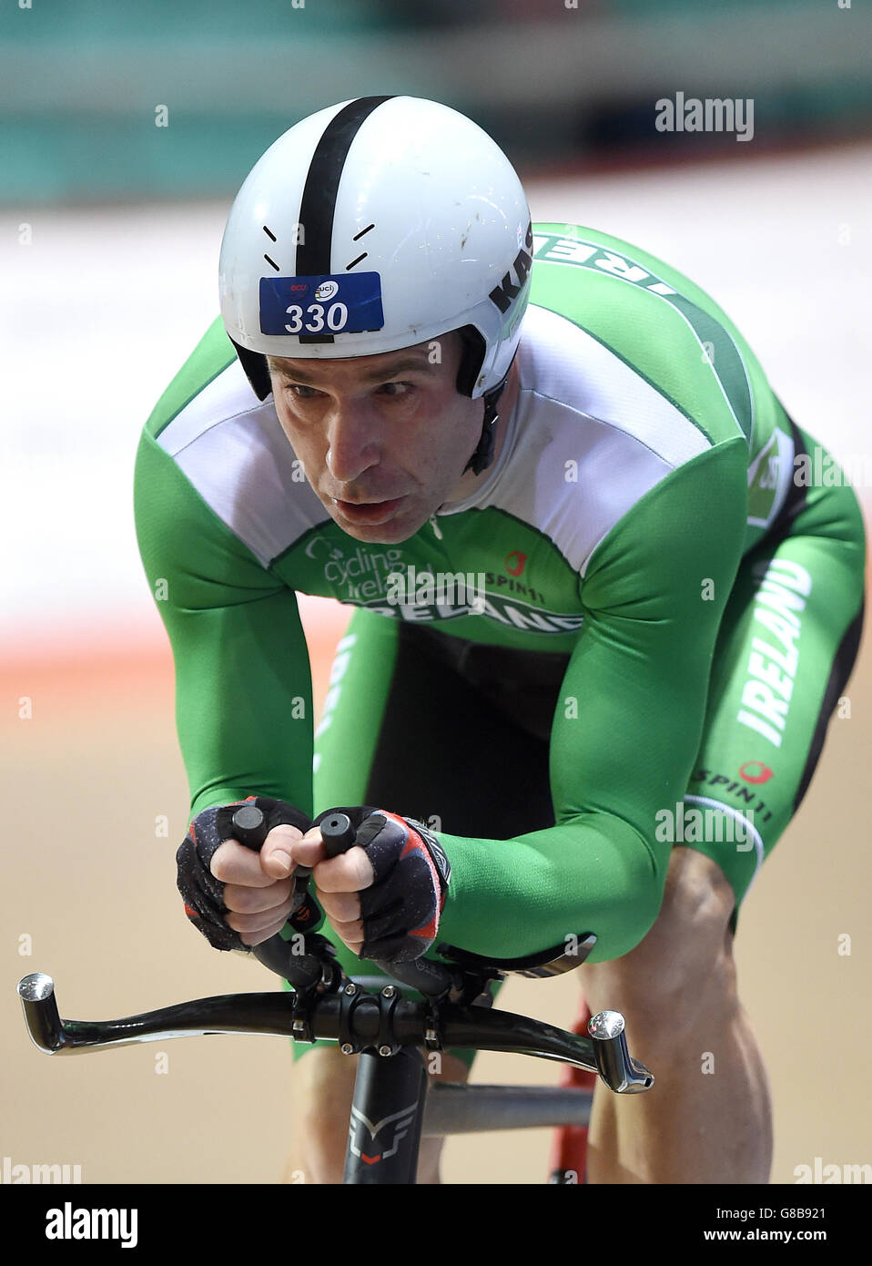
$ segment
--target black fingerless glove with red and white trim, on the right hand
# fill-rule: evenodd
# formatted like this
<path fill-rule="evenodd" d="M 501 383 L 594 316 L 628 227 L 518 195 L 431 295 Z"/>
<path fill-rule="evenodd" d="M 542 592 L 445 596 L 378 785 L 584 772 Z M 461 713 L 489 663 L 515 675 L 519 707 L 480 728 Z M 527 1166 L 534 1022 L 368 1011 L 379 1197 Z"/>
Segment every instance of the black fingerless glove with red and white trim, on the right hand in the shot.
<path fill-rule="evenodd" d="M 320 813 L 313 827 L 344 813 L 354 843 L 366 848 L 375 881 L 359 893 L 363 920 L 361 958 L 409 962 L 433 946 L 451 881 L 451 862 L 432 830 L 415 818 L 401 818 L 370 805 Z"/>

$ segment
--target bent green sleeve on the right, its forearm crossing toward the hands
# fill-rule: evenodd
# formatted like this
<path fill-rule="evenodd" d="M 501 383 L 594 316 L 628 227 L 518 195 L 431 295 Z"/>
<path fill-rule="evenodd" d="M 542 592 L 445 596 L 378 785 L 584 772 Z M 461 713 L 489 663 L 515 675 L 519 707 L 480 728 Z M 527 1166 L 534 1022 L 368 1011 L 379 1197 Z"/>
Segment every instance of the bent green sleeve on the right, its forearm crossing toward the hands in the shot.
<path fill-rule="evenodd" d="M 552 730 L 556 825 L 508 841 L 440 834 L 442 941 L 511 958 L 594 932 L 590 961 L 602 962 L 645 936 L 672 847 L 656 814 L 676 810 L 697 752 L 745 503 L 737 437 L 670 473 L 597 546 Z"/>

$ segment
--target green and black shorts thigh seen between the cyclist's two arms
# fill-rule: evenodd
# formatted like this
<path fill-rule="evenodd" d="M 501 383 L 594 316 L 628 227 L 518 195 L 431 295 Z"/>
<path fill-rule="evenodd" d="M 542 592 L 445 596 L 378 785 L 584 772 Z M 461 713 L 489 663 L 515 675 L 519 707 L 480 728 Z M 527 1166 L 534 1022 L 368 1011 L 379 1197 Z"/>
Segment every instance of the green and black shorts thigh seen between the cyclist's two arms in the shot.
<path fill-rule="evenodd" d="M 323 719 L 315 736 L 318 812 L 377 804 L 428 824 L 435 818 L 437 830 L 490 838 L 553 823 L 547 741 L 500 711 L 443 653 L 447 643 L 468 646 L 354 613 L 332 675 L 329 724 Z M 530 776 L 519 785 L 513 771 L 524 761 Z"/>

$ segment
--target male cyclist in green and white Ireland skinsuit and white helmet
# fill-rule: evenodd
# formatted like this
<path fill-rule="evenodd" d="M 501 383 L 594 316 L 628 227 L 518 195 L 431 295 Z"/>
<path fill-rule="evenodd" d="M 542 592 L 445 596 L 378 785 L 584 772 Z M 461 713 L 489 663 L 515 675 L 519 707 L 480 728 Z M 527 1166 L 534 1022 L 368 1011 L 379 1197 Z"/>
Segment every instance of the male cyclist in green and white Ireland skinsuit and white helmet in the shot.
<path fill-rule="evenodd" d="M 585 995 L 658 1080 L 597 1091 L 589 1180 L 766 1182 L 732 946 L 856 657 L 852 489 L 809 481 L 820 446 L 707 295 L 532 225 L 504 153 L 437 103 L 362 97 L 280 137 L 230 210 L 220 294 L 135 471 L 189 917 L 254 946 L 310 918 L 314 866 L 358 976 L 594 932 Z M 354 606 L 314 739 L 295 591 Z M 247 798 L 259 856 L 228 829 Z M 366 847 L 324 860 L 332 808 Z M 354 1058 L 295 1056 L 291 1169 L 339 1181 Z"/>

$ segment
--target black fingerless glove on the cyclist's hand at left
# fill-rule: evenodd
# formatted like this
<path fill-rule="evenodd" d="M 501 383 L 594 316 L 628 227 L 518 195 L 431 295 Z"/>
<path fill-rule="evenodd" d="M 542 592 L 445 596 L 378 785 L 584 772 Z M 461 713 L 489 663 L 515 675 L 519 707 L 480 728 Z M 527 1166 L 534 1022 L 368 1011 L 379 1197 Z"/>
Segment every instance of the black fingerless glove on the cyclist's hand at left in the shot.
<path fill-rule="evenodd" d="M 252 947 L 244 944 L 238 932 L 228 927 L 224 915 L 228 908 L 224 904 L 224 884 L 215 879 L 209 868 L 213 855 L 225 839 L 233 839 L 233 814 L 243 804 L 253 804 L 261 809 L 266 819 L 267 834 L 273 827 L 289 824 L 299 827 L 306 833 L 311 820 L 305 813 L 300 813 L 294 805 L 283 800 L 273 800 L 270 796 L 247 796 L 233 804 L 216 805 L 211 809 L 202 809 L 192 819 L 187 836 L 176 852 L 176 866 L 178 868 L 178 891 L 185 899 L 185 914 L 190 922 L 201 932 L 214 950 L 244 950 L 251 952 Z M 311 896 L 300 895 L 297 908 L 295 908 L 289 922 L 297 920 L 300 931 L 309 932 L 321 919 L 321 913 Z"/>

